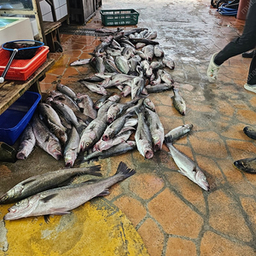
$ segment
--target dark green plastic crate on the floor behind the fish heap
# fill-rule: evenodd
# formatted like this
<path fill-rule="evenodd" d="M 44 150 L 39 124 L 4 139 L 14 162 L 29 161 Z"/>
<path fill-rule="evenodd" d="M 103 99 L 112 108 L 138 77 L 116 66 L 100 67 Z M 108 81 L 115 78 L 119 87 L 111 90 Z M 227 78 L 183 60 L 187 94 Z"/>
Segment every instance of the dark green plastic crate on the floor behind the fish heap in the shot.
<path fill-rule="evenodd" d="M 139 13 L 135 9 L 101 10 L 104 26 L 137 25 Z"/>

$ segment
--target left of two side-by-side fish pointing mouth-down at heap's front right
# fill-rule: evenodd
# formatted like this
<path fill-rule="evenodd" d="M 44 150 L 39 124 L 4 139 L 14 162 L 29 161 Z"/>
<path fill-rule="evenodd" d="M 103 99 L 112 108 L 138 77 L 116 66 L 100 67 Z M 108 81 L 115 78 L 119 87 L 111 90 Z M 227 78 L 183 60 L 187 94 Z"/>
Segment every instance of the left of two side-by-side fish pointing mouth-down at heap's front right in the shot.
<path fill-rule="evenodd" d="M 138 119 L 137 130 L 135 132 L 137 149 L 145 159 L 150 159 L 154 156 L 151 134 L 148 125 L 145 122 L 143 111 L 141 109 L 137 109 L 136 113 Z"/>

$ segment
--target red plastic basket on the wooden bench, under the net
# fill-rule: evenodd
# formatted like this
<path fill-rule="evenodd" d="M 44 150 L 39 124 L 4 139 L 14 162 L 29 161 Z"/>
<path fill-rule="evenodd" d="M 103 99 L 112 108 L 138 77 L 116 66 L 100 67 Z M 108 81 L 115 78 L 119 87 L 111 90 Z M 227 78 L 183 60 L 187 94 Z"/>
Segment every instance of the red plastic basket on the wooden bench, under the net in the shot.
<path fill-rule="evenodd" d="M 30 60 L 13 60 L 4 79 L 25 81 L 46 61 L 48 53 L 49 47 L 44 45 L 37 50 L 36 55 Z M 0 49 L 0 74 L 3 73 L 9 56 L 8 50 Z"/>

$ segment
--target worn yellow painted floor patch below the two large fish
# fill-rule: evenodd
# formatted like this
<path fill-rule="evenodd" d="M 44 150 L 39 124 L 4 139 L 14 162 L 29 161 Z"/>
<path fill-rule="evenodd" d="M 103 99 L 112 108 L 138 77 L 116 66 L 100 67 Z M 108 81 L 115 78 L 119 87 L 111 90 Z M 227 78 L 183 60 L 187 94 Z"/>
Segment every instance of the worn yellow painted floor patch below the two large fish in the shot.
<path fill-rule="evenodd" d="M 0 206 L 0 255 L 148 256 L 129 219 L 104 198 L 52 216 L 49 224 L 41 216 L 3 222 L 10 206 Z"/>

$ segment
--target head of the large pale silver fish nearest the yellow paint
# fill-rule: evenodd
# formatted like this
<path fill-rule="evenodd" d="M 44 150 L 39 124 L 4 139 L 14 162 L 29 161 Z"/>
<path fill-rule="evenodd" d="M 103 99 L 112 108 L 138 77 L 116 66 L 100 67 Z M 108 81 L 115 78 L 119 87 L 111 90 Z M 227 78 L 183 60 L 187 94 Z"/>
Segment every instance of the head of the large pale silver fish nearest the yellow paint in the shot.
<path fill-rule="evenodd" d="M 32 195 L 26 199 L 18 201 L 13 207 L 8 209 L 3 219 L 13 220 L 18 218 L 29 217 L 31 212 L 38 206 L 40 195 Z"/>

